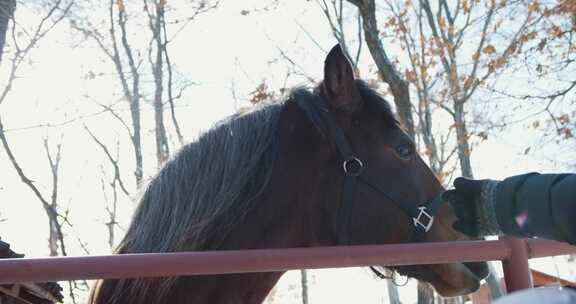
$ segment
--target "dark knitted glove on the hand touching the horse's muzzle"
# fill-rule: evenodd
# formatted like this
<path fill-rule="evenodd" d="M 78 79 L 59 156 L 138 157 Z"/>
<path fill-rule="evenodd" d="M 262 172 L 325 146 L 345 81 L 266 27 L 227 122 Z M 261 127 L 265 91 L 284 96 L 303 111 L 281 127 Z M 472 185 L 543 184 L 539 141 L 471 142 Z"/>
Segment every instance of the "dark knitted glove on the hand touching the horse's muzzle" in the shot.
<path fill-rule="evenodd" d="M 494 191 L 497 181 L 473 180 L 459 177 L 454 189 L 446 191 L 443 198 L 452 205 L 457 220 L 453 225 L 471 237 L 500 234 L 494 209 Z"/>

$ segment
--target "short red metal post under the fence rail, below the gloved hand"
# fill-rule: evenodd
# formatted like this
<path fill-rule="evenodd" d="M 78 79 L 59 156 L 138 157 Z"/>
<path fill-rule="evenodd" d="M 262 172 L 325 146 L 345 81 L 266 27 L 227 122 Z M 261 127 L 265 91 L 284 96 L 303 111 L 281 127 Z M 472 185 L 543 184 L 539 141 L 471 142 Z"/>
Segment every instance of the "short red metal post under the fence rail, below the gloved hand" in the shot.
<path fill-rule="evenodd" d="M 532 288 L 532 274 L 528 264 L 528 244 L 526 240 L 501 237 L 510 247 L 510 256 L 502 261 L 506 290 L 510 292 Z"/>

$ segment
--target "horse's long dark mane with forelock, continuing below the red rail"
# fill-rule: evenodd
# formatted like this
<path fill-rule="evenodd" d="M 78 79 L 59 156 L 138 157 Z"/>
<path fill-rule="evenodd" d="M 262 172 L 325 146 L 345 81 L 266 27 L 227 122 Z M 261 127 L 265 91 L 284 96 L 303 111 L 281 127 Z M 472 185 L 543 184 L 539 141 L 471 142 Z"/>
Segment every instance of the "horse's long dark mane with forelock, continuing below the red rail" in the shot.
<path fill-rule="evenodd" d="M 397 125 L 389 104 L 377 92 L 362 81 L 357 86 L 369 107 Z M 287 100 L 232 115 L 184 146 L 148 184 L 116 253 L 219 249 L 268 185 L 284 105 L 298 99 L 304 100 L 300 105 L 318 103 L 319 98 L 319 89 L 294 89 Z M 312 122 L 322 128 L 321 120 Z M 165 303 L 177 280 L 99 281 L 90 303 Z M 98 299 L 104 294 L 105 303 Z"/>

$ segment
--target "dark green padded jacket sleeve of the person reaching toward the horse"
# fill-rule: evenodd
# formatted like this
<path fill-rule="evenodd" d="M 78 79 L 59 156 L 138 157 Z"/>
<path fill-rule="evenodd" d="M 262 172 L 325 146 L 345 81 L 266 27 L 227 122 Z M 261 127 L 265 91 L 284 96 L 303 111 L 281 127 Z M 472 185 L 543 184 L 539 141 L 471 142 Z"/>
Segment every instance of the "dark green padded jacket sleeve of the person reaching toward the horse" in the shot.
<path fill-rule="evenodd" d="M 496 186 L 494 205 L 505 234 L 576 244 L 576 174 L 509 177 Z"/>

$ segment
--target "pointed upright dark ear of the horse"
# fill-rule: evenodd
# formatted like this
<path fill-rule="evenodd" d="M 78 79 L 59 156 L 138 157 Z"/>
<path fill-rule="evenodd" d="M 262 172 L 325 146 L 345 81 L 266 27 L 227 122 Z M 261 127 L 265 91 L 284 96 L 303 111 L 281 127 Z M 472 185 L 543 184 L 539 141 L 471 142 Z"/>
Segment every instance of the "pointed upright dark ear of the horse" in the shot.
<path fill-rule="evenodd" d="M 328 102 L 336 109 L 354 112 L 362 103 L 352 64 L 339 44 L 330 50 L 324 60 L 324 91 Z"/>

